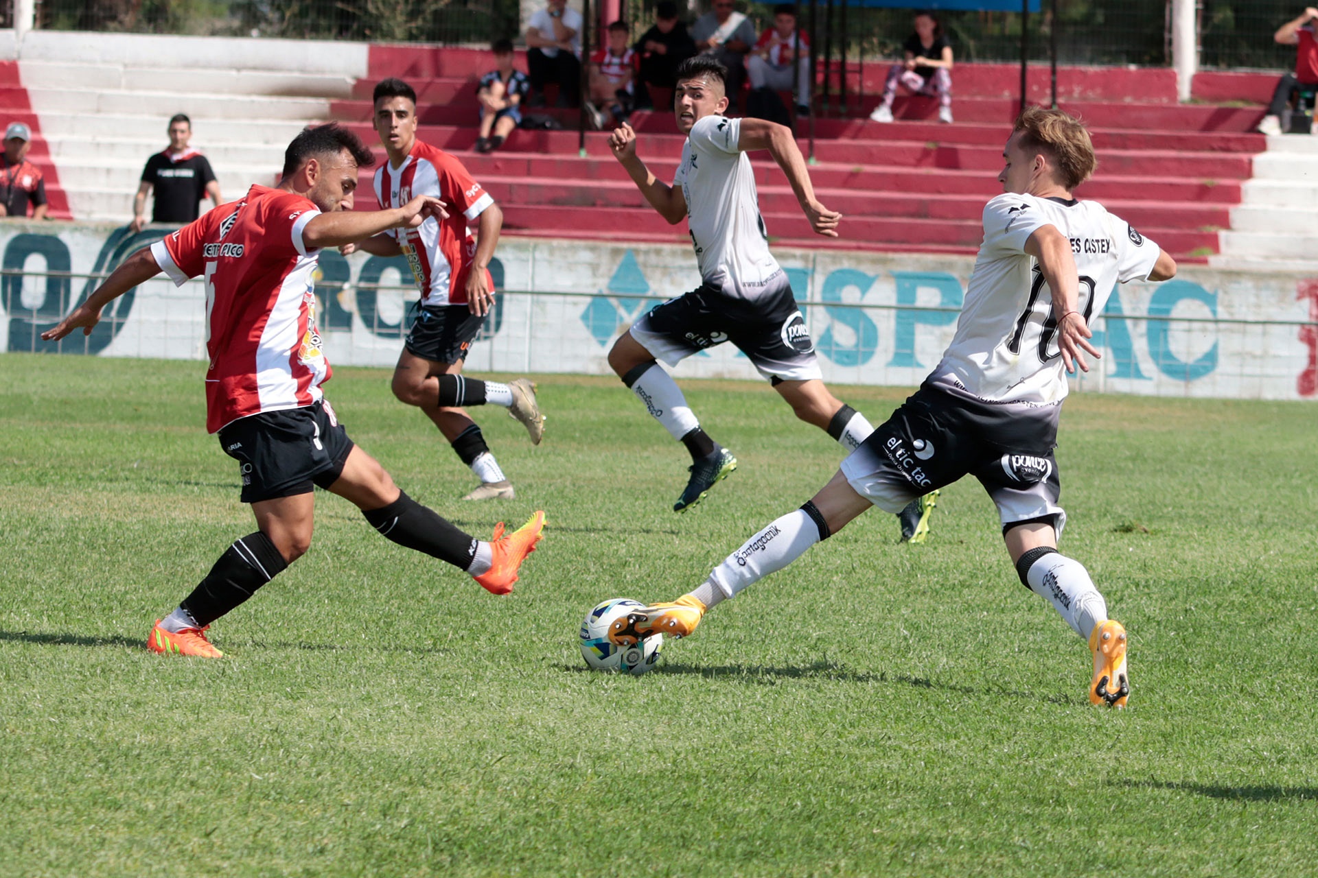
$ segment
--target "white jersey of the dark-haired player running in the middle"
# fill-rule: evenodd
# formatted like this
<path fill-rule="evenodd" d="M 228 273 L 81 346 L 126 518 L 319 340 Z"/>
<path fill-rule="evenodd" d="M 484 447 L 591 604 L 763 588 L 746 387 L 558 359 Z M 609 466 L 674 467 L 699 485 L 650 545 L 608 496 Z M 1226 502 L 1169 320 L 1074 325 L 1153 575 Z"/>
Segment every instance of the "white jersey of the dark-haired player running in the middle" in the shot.
<path fill-rule="evenodd" d="M 738 146 L 741 120 L 705 116 L 681 150 L 672 184 L 687 200 L 687 224 L 705 284 L 755 299 L 782 269 L 768 251 L 755 172 Z"/>

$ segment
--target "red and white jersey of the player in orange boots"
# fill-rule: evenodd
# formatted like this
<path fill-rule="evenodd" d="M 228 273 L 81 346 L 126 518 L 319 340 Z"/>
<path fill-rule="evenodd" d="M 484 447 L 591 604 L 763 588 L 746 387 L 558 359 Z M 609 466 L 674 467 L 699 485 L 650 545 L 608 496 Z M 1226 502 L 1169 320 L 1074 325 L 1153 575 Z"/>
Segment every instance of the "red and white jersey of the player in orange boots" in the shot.
<path fill-rule="evenodd" d="M 302 232 L 320 215 L 311 200 L 253 186 L 152 245 L 175 283 L 206 278 L 206 429 L 322 399 L 330 363 L 315 325 L 319 250 Z"/>

